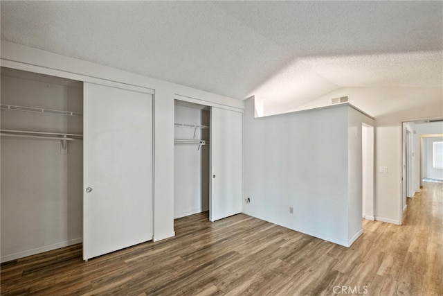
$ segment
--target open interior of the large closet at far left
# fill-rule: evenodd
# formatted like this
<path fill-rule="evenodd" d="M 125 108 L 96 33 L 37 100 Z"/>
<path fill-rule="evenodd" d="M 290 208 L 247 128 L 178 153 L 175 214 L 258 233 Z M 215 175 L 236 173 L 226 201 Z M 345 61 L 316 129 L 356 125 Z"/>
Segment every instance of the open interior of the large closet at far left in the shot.
<path fill-rule="evenodd" d="M 1 68 L 1 261 L 82 242 L 83 83 Z"/>

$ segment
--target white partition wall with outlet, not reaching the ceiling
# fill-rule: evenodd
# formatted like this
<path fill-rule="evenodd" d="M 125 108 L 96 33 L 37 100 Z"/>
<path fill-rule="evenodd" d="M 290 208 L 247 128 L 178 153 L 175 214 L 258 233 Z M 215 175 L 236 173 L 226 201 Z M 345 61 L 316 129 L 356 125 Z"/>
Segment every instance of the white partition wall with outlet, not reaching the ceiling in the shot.
<path fill-rule="evenodd" d="M 350 108 L 339 105 L 254 119 L 253 98 L 248 99 L 244 198 L 251 202 L 244 204 L 244 213 L 349 245 L 350 238 L 358 236 L 362 215 L 361 120 L 350 112 L 348 128 Z M 355 159 L 350 162 L 349 148 L 359 150 L 351 153 Z"/>

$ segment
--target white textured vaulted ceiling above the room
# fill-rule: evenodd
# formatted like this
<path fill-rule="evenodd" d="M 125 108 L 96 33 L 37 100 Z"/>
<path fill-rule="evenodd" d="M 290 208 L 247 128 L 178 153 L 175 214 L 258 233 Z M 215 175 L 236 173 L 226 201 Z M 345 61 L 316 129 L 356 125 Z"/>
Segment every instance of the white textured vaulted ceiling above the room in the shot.
<path fill-rule="evenodd" d="M 237 99 L 442 87 L 442 1 L 1 1 L 1 39 Z"/>

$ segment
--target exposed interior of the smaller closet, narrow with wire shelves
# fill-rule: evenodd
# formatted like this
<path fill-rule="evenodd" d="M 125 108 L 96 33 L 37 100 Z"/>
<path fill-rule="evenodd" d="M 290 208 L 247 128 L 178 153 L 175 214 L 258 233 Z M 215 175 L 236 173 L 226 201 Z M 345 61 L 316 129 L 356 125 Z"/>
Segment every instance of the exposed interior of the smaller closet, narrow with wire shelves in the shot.
<path fill-rule="evenodd" d="M 174 101 L 174 218 L 208 211 L 210 107 Z"/>

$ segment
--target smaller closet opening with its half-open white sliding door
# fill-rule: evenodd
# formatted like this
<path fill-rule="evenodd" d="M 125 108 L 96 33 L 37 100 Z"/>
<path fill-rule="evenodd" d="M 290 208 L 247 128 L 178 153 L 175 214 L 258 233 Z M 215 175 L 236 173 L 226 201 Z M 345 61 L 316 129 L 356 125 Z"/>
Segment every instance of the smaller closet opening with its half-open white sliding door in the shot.
<path fill-rule="evenodd" d="M 174 103 L 174 218 L 209 210 L 214 222 L 241 213 L 242 112 L 181 98 Z"/>

